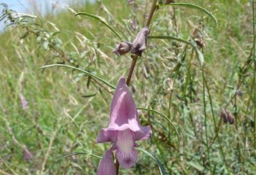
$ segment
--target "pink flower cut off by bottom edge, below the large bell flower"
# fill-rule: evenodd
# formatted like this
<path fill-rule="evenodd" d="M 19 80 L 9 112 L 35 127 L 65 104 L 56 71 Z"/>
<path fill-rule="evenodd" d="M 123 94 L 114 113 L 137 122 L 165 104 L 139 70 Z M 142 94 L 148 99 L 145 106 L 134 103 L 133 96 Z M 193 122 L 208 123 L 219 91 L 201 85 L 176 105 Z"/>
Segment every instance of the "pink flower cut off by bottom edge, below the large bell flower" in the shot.
<path fill-rule="evenodd" d="M 116 167 L 113 162 L 112 150 L 108 149 L 99 163 L 97 175 L 116 175 Z"/>

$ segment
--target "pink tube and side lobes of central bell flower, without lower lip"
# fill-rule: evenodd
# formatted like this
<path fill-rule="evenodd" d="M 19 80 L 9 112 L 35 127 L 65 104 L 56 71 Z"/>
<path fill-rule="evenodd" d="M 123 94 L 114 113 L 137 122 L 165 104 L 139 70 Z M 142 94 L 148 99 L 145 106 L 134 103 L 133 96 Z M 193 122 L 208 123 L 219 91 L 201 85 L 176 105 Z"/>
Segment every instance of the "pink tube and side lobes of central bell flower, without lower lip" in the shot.
<path fill-rule="evenodd" d="M 140 125 L 135 101 L 129 92 L 125 79 L 121 77 L 110 107 L 110 124 L 108 128 L 100 131 L 97 142 L 112 141 L 116 143 L 117 131 L 127 129 L 132 131 L 135 141 L 148 139 L 152 133 L 149 126 Z"/>

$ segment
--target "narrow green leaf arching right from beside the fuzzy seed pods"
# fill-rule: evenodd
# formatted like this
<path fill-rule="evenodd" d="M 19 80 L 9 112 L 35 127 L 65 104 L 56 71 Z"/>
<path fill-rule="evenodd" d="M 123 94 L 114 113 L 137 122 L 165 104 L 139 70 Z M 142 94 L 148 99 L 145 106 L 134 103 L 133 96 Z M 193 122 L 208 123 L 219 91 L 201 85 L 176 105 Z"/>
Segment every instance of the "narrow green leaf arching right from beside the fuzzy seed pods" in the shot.
<path fill-rule="evenodd" d="M 204 64 L 203 53 L 200 50 L 198 50 L 197 46 L 192 42 L 189 42 L 185 39 L 177 38 L 175 36 L 148 36 L 148 39 L 170 39 L 170 40 L 175 40 L 177 42 L 183 42 L 185 44 L 189 44 L 195 49 L 195 52 L 197 52 L 197 58 L 199 59 L 201 66 L 203 66 Z"/>

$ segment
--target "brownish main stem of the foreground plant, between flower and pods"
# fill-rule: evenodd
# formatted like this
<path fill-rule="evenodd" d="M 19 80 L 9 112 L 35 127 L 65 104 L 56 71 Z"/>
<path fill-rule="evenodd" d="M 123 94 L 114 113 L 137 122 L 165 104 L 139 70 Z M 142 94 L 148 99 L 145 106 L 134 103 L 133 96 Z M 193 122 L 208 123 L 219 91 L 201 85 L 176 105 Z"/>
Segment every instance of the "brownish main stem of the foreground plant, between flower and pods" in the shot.
<path fill-rule="evenodd" d="M 157 9 L 157 0 L 154 0 L 153 4 L 152 4 L 152 7 L 151 7 L 151 10 L 150 10 L 150 13 L 148 15 L 148 20 L 147 20 L 147 23 L 146 23 L 146 27 L 148 27 L 150 25 L 151 20 L 152 20 L 153 15 L 154 15 L 154 12 L 156 11 L 156 9 Z M 132 64 L 129 68 L 129 75 L 127 77 L 127 86 L 129 86 L 129 82 L 131 81 L 132 73 L 133 73 L 133 70 L 135 69 L 135 65 L 137 63 L 137 60 L 138 60 L 138 55 L 132 55 Z M 118 160 L 116 159 L 116 175 L 118 175 L 118 172 L 119 172 L 119 163 L 118 163 Z"/>

